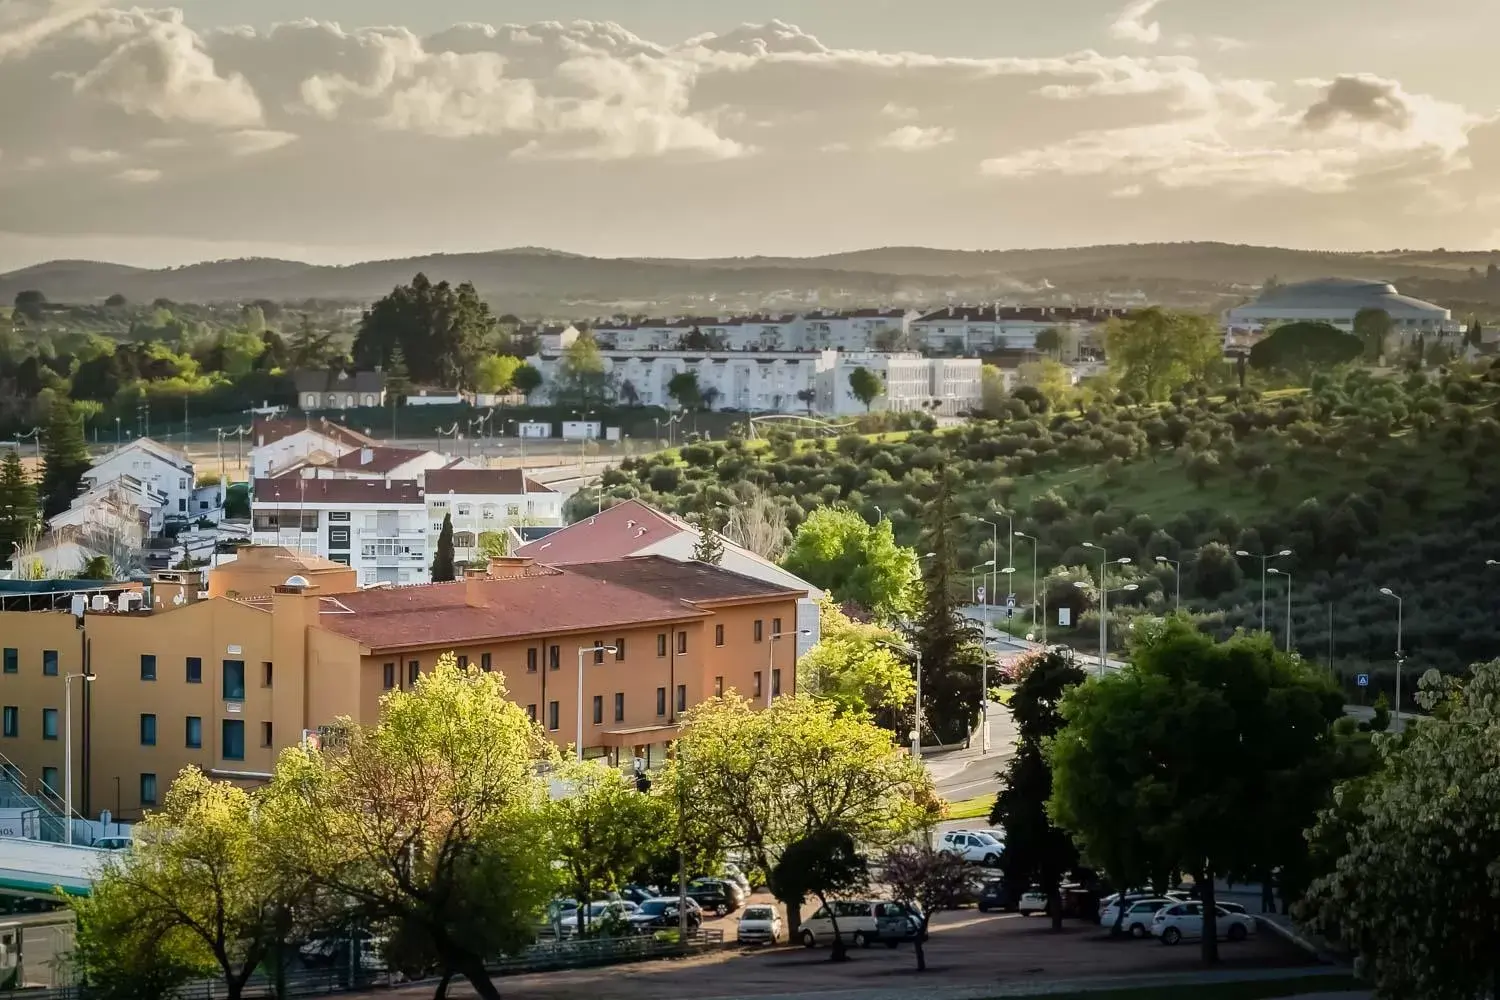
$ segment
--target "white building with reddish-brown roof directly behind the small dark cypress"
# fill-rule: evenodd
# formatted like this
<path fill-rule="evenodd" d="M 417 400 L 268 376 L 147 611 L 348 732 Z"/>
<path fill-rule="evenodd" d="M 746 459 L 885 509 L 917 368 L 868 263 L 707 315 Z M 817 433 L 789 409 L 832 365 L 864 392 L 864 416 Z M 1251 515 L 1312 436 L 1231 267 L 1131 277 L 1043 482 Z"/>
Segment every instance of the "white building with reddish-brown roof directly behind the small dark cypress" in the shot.
<path fill-rule="evenodd" d="M 526 478 L 520 469 L 434 469 L 424 477 L 429 547 L 435 552 L 442 519 L 453 519 L 453 559 L 474 562 L 484 532 L 522 526 L 562 526 L 562 495 Z"/>

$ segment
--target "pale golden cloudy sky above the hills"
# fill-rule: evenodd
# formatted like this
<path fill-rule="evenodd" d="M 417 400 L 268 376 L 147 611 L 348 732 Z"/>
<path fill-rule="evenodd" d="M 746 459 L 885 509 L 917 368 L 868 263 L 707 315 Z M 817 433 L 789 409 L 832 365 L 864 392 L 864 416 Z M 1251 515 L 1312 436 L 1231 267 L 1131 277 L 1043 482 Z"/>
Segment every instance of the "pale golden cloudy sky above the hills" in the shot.
<path fill-rule="evenodd" d="M 1497 34 L 1474 0 L 0 0 L 0 270 L 1486 249 Z"/>

